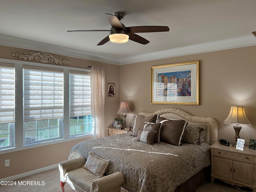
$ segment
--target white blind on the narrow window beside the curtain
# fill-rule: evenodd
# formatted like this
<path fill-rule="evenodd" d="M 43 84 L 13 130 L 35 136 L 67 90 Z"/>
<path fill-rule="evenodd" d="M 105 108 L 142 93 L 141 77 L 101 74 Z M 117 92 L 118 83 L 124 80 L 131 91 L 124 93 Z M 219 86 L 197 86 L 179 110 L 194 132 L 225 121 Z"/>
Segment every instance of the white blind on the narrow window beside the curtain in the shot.
<path fill-rule="evenodd" d="M 91 114 L 90 73 L 70 71 L 70 117 Z"/>

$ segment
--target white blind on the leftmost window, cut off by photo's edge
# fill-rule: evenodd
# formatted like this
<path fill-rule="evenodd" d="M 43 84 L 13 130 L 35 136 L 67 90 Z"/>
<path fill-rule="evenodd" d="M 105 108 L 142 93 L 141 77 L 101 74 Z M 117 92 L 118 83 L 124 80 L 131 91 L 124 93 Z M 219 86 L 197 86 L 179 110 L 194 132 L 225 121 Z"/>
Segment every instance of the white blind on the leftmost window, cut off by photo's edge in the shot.
<path fill-rule="evenodd" d="M 14 65 L 0 64 L 0 123 L 14 122 Z"/>

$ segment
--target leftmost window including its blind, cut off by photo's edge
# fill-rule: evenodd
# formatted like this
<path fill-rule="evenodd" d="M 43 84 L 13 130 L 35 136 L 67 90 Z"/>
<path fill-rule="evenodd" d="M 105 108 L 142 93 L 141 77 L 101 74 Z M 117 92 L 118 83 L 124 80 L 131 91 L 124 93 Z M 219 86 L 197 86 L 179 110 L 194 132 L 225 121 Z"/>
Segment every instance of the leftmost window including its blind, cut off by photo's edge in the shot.
<path fill-rule="evenodd" d="M 14 94 L 14 65 L 0 63 L 0 148 L 14 145 Z"/>

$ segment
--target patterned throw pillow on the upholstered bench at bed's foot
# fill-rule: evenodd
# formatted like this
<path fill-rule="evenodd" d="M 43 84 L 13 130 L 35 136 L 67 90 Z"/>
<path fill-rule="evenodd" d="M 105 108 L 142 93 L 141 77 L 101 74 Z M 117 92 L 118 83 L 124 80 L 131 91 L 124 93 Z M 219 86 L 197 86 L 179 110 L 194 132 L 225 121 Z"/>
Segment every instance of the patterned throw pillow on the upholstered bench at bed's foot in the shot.
<path fill-rule="evenodd" d="M 108 168 L 109 162 L 109 160 L 105 160 L 93 152 L 90 152 L 83 168 L 89 170 L 97 177 L 102 177 Z"/>

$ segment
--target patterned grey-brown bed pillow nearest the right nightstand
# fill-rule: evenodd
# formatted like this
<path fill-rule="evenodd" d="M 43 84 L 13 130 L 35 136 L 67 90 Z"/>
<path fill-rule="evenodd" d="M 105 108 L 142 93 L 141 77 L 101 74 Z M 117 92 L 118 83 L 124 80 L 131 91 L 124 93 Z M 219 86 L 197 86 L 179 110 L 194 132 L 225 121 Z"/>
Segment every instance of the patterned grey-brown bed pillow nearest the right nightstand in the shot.
<path fill-rule="evenodd" d="M 206 124 L 188 123 L 183 134 L 182 142 L 200 145 L 204 141 L 205 133 Z"/>

